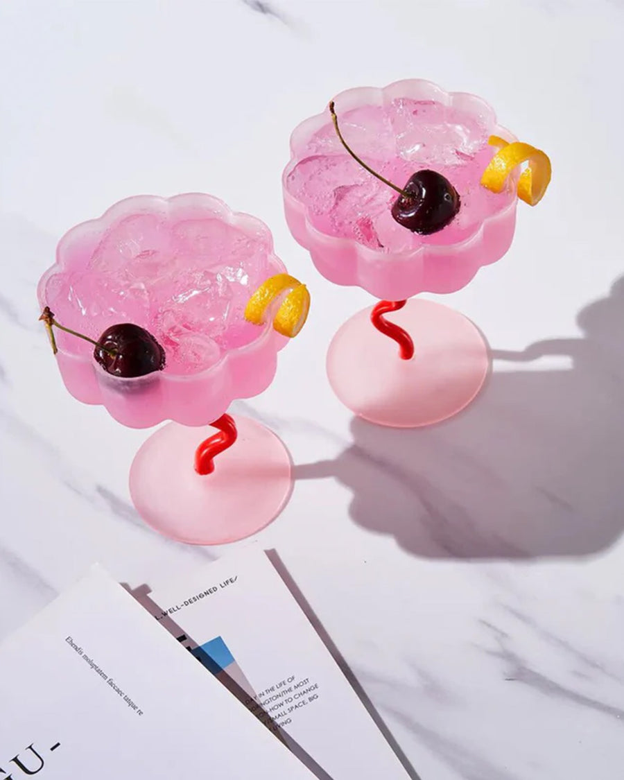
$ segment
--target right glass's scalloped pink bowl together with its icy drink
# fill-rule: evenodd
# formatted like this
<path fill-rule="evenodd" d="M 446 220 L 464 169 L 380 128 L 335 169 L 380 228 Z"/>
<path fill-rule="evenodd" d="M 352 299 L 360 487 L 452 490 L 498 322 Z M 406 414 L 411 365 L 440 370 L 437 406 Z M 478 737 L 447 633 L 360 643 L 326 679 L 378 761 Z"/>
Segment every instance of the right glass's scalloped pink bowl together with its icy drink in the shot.
<path fill-rule="evenodd" d="M 495 148 L 513 140 L 479 97 L 449 93 L 422 80 L 383 89 L 360 87 L 335 98 L 349 147 L 399 189 L 432 170 L 459 193 L 456 217 L 424 236 L 395 222 L 397 193 L 349 156 L 328 110 L 306 119 L 290 139 L 282 176 L 286 220 L 317 269 L 331 282 L 405 300 L 453 293 L 509 249 L 516 225 L 517 173 L 502 193 L 480 185 Z"/>

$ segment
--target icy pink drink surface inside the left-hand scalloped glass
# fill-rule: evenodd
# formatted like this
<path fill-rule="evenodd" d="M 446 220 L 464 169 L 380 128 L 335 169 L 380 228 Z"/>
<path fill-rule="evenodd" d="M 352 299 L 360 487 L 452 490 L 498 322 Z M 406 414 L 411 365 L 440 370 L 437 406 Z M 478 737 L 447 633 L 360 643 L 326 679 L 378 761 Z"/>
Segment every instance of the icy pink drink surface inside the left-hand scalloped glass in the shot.
<path fill-rule="evenodd" d="M 263 237 L 222 219 L 135 214 L 115 222 L 82 268 L 51 276 L 45 299 L 59 322 L 92 339 L 133 322 L 165 348 L 168 374 L 196 374 L 260 335 L 244 320 L 251 293 L 269 275 Z M 58 332 L 58 345 L 93 347 Z"/>

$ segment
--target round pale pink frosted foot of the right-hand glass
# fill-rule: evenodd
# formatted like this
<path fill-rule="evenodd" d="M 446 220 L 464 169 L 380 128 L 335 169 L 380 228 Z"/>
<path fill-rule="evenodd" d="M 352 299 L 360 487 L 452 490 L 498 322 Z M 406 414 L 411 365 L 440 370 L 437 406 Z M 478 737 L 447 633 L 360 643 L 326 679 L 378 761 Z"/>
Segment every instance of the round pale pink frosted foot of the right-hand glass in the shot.
<path fill-rule="evenodd" d="M 488 346 L 463 314 L 429 300 L 409 300 L 386 319 L 412 336 L 401 360 L 396 342 L 371 323 L 372 309 L 351 317 L 332 339 L 330 384 L 359 417 L 391 427 L 431 425 L 463 410 L 488 375 Z"/>

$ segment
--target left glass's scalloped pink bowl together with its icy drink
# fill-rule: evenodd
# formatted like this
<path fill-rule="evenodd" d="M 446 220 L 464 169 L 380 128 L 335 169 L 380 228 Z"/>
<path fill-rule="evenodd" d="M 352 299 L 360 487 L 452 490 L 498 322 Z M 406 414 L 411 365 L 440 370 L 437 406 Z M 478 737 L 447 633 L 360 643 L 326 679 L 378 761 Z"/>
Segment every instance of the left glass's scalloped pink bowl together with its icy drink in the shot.
<path fill-rule="evenodd" d="M 91 339 L 131 322 L 165 349 L 164 371 L 122 380 L 95 363 L 92 345 L 57 330 L 58 366 L 76 399 L 104 404 L 130 427 L 204 425 L 275 376 L 285 339 L 270 323 L 247 322 L 244 310 L 283 271 L 254 217 L 200 193 L 140 196 L 63 236 L 37 292 L 58 322 Z"/>

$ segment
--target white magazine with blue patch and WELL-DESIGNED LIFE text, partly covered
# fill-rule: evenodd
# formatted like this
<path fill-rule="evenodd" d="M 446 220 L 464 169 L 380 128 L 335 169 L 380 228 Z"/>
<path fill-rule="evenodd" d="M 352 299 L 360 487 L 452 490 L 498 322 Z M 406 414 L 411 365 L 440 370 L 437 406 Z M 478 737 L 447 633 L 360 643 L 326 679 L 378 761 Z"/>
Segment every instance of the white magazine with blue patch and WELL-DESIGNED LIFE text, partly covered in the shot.
<path fill-rule="evenodd" d="M 207 564 L 149 599 L 154 617 L 317 777 L 410 776 L 260 548 Z"/>

